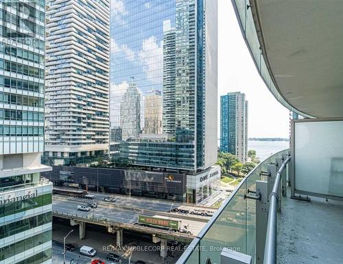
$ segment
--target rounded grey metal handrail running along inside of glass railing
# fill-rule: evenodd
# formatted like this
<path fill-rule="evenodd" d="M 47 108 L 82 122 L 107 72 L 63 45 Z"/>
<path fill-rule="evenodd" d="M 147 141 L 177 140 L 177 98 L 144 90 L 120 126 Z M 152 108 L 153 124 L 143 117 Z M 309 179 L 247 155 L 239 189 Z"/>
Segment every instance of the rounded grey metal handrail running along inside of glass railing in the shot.
<path fill-rule="evenodd" d="M 279 203 L 279 187 L 281 181 L 281 174 L 285 169 L 287 163 L 291 160 L 291 157 L 287 157 L 283 161 L 281 168 L 276 172 L 275 182 L 272 192 L 269 196 L 269 211 L 268 211 L 268 226 L 267 233 L 265 234 L 265 247 L 263 263 L 275 264 L 276 263 L 276 230 L 277 230 L 277 208 Z"/>

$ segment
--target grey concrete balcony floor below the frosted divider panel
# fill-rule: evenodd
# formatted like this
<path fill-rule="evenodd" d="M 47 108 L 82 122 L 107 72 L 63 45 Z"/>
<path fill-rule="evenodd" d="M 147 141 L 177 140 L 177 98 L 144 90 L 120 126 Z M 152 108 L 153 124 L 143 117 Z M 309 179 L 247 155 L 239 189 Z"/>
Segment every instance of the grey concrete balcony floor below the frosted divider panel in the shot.
<path fill-rule="evenodd" d="M 343 202 L 287 198 L 278 215 L 277 263 L 343 263 Z"/>

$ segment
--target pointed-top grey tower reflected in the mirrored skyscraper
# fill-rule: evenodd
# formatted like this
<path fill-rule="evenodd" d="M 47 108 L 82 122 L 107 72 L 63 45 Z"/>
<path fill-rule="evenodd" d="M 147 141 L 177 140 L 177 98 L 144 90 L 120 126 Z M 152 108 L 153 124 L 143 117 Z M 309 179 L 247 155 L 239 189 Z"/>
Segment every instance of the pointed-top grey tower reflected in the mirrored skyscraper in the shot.
<path fill-rule="evenodd" d="M 121 140 L 132 140 L 141 132 L 141 95 L 132 78 L 120 103 Z"/>

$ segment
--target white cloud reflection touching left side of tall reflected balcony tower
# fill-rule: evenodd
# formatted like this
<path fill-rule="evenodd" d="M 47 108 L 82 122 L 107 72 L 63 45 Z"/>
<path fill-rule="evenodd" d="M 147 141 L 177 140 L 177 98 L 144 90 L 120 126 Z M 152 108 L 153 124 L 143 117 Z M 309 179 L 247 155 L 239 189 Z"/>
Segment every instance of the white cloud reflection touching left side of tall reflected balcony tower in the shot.
<path fill-rule="evenodd" d="M 153 83 L 163 82 L 163 42 L 158 44 L 155 36 L 143 40 L 142 50 L 138 54 L 143 71 Z"/>

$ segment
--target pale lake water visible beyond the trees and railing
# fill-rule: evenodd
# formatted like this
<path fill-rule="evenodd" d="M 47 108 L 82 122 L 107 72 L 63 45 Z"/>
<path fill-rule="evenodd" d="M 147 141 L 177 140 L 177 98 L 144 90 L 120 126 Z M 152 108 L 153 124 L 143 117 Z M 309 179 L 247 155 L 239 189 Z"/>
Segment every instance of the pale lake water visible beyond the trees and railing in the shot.
<path fill-rule="evenodd" d="M 261 161 L 286 148 L 289 148 L 289 142 L 287 141 L 248 141 L 248 150 L 256 150 L 256 156 Z"/>

